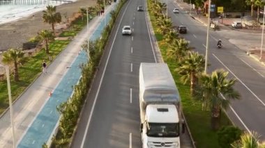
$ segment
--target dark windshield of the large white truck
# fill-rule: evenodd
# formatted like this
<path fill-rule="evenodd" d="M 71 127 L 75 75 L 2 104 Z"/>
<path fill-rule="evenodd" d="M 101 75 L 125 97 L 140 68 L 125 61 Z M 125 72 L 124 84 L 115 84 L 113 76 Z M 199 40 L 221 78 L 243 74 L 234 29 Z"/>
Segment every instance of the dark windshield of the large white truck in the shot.
<path fill-rule="evenodd" d="M 149 137 L 178 137 L 179 123 L 148 123 L 146 135 Z"/>

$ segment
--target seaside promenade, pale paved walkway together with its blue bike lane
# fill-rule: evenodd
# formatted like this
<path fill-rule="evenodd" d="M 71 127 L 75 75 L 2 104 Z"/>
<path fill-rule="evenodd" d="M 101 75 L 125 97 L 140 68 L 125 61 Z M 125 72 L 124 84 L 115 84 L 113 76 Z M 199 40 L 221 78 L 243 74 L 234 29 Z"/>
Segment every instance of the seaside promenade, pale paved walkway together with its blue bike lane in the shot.
<path fill-rule="evenodd" d="M 110 10 L 112 6 L 107 7 L 105 13 Z M 89 38 L 100 35 L 96 31 L 103 30 L 103 18 L 104 15 L 101 15 L 91 20 Z M 106 21 L 109 19 L 109 15 L 106 15 Z M 41 147 L 52 137 L 59 120 L 56 106 L 70 97 L 73 85 L 81 76 L 80 64 L 87 60 L 86 53 L 80 52 L 87 38 L 87 30 L 84 28 L 47 67 L 47 74 L 40 74 L 13 104 L 17 147 Z M 0 125 L 0 147 L 13 147 L 9 110 L 1 117 Z"/>

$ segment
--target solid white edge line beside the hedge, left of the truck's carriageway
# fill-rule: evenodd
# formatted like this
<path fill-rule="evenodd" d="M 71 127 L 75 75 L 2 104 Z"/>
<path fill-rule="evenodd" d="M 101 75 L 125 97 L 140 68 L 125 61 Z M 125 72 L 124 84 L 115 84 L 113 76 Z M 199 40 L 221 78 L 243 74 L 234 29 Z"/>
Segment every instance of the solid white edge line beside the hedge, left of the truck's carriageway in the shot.
<path fill-rule="evenodd" d="M 129 3 L 128 3 L 128 4 L 129 4 Z M 128 4 L 127 4 L 127 6 L 126 6 L 126 10 L 127 10 L 128 6 L 129 6 Z M 123 19 L 124 15 L 125 15 L 125 13 L 126 13 L 126 10 L 123 12 L 123 15 L 122 15 L 122 17 L 121 17 L 121 20 Z M 120 28 L 120 26 L 121 26 L 121 22 L 119 23 L 118 28 Z M 117 33 L 118 33 L 118 30 L 117 30 L 116 33 L 115 33 L 114 41 L 115 41 L 115 39 L 116 39 Z M 93 101 L 93 105 L 92 105 L 92 108 L 91 108 L 91 113 L 89 114 L 89 119 L 88 119 L 88 121 L 87 121 L 86 129 L 85 129 L 85 131 L 84 131 L 84 136 L 83 136 L 83 139 L 82 139 L 81 148 L 84 148 L 84 141 L 86 140 L 87 131 L 89 131 L 89 124 L 90 124 L 90 122 L 91 122 L 91 118 L 92 118 L 92 115 L 93 115 L 93 111 L 94 111 L 94 108 L 95 108 L 95 106 L 96 106 L 96 101 L 97 101 L 97 99 L 98 99 L 99 90 L 100 90 L 100 88 L 101 88 L 101 84 L 102 84 L 102 81 L 103 81 L 103 77 L 105 76 L 105 72 L 106 72 L 107 64 L 109 63 L 109 57 L 110 57 L 110 54 L 112 53 L 113 45 L 114 45 L 114 42 L 112 42 L 112 46 L 110 47 L 109 55 L 107 56 L 107 61 L 106 61 L 105 67 L 104 67 L 104 69 L 103 69 L 103 74 L 102 74 L 102 76 L 101 76 L 101 78 L 100 78 L 100 83 L 99 83 L 99 85 L 98 85 L 98 90 L 97 90 L 97 92 L 96 92 L 96 97 L 95 97 L 95 99 L 94 99 L 94 101 Z"/>

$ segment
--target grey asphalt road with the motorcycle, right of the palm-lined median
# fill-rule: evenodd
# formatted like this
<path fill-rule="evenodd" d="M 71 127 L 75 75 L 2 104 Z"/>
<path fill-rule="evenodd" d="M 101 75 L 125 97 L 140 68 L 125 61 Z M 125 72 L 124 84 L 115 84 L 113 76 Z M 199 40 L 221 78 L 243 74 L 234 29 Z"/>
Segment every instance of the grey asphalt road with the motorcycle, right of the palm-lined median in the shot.
<path fill-rule="evenodd" d="M 205 55 L 206 51 L 206 27 L 202 26 L 188 13 L 180 10 L 179 14 L 172 13 L 174 4 L 171 2 L 168 7 L 169 17 L 174 25 L 188 27 L 188 33 L 181 36 L 190 41 L 190 46 L 195 51 Z M 235 40 L 242 36 L 238 31 L 227 31 L 233 34 Z M 221 39 L 224 47 L 218 49 L 216 44 Z M 245 42 L 248 42 L 246 39 Z M 238 81 L 235 89 L 241 94 L 240 100 L 234 100 L 227 110 L 227 114 L 236 126 L 248 131 L 257 131 L 265 140 L 265 67 L 252 60 L 245 54 L 245 51 L 238 49 L 229 40 L 224 38 L 223 33 L 210 29 L 209 33 L 209 66 L 208 71 L 225 69 L 229 76 Z"/>

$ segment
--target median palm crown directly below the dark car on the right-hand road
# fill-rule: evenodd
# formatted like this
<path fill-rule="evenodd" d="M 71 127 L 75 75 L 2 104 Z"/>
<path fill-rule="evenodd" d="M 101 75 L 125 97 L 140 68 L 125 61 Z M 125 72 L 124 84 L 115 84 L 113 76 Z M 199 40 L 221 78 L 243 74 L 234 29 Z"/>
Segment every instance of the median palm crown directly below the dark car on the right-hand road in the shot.
<path fill-rule="evenodd" d="M 174 40 L 172 44 L 169 45 L 167 49 L 168 58 L 179 62 L 186 55 L 186 52 L 189 51 L 188 42 L 185 39 Z"/>

